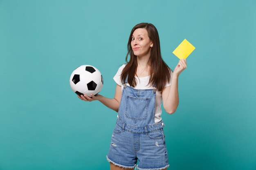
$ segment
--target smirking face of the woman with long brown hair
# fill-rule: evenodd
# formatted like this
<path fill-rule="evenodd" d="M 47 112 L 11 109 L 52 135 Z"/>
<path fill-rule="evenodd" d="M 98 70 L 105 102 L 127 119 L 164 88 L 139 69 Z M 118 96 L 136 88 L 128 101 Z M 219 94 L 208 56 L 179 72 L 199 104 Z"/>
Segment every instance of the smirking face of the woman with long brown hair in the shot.
<path fill-rule="evenodd" d="M 144 56 L 149 55 L 153 45 L 148 37 L 148 31 L 145 28 L 135 29 L 132 33 L 131 46 L 134 55 Z"/>

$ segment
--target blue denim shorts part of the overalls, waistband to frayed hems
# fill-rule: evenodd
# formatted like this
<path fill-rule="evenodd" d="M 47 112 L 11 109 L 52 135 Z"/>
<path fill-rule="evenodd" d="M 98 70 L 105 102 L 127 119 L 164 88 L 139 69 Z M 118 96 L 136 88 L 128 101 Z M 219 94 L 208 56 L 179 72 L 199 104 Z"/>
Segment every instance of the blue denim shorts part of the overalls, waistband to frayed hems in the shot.
<path fill-rule="evenodd" d="M 106 158 L 114 165 L 139 170 L 167 168 L 164 122 L 147 127 L 129 126 L 117 119 Z M 138 159 L 138 165 L 136 165 Z"/>

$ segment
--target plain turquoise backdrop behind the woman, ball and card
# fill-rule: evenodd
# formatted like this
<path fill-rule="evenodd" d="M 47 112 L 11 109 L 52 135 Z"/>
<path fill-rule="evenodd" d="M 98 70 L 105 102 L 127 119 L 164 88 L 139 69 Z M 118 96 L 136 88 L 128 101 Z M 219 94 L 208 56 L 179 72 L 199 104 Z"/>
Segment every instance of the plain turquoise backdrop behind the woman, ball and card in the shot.
<path fill-rule="evenodd" d="M 113 98 L 135 24 L 156 26 L 164 61 L 195 46 L 180 103 L 163 109 L 170 170 L 256 169 L 254 0 L 0 0 L 0 170 L 103 170 L 117 113 L 69 78 L 98 68 Z"/>

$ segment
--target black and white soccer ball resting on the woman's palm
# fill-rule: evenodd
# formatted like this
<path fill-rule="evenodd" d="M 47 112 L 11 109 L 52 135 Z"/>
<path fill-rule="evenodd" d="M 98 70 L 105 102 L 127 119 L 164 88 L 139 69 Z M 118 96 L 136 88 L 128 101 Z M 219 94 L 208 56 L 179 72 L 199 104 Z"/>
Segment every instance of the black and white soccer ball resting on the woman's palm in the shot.
<path fill-rule="evenodd" d="M 91 97 L 97 95 L 103 87 L 101 72 L 90 65 L 82 65 L 76 68 L 70 76 L 70 86 L 77 95 Z"/>

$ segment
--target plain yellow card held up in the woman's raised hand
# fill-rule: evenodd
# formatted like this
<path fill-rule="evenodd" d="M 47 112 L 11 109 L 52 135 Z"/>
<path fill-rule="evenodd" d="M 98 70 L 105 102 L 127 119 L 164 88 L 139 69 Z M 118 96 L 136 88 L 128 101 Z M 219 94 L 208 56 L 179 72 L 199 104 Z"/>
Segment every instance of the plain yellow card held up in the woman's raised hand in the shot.
<path fill-rule="evenodd" d="M 184 39 L 179 46 L 173 51 L 173 54 L 176 55 L 179 59 L 188 57 L 195 47 L 190 44 L 186 39 Z"/>

